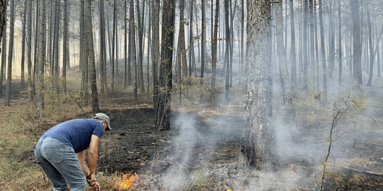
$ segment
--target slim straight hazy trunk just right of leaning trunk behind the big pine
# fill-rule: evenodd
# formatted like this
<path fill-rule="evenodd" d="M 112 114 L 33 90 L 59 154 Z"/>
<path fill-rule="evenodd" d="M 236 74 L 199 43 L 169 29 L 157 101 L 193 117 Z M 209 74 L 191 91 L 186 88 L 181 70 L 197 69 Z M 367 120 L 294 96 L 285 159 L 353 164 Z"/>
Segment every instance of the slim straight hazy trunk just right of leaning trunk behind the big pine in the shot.
<path fill-rule="evenodd" d="M 296 85 L 296 50 L 295 50 L 295 24 L 294 24 L 294 2 L 290 0 L 290 28 L 291 28 L 291 83 Z M 294 86 L 291 86 L 291 91 Z"/>

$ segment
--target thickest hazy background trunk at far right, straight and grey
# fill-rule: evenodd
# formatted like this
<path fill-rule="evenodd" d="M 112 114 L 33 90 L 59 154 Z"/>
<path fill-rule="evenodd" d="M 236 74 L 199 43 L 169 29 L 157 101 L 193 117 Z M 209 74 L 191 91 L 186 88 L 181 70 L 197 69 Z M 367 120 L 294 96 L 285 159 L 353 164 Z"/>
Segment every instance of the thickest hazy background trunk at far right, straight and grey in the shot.
<path fill-rule="evenodd" d="M 361 45 L 360 45 L 360 26 L 359 26 L 359 4 L 358 0 L 350 0 L 351 4 L 351 16 L 352 16 L 352 29 L 353 29 L 353 77 L 358 84 L 362 84 L 362 69 L 361 69 Z M 357 85 L 357 84 L 355 84 Z M 359 86 L 356 86 L 357 89 Z"/>

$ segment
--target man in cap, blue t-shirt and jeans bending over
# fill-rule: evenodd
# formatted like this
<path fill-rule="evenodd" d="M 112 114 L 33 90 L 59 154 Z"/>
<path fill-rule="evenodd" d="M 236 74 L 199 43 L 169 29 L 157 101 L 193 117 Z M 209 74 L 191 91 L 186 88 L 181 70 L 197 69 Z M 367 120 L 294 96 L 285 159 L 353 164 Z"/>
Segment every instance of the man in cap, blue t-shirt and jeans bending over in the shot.
<path fill-rule="evenodd" d="M 92 119 L 75 119 L 60 123 L 43 135 L 34 149 L 36 162 L 53 183 L 54 191 L 85 191 L 85 184 L 100 191 L 96 178 L 98 142 L 105 130 L 110 130 L 110 119 L 104 113 Z M 89 147 L 89 148 L 88 148 Z M 88 163 L 85 149 L 88 148 Z"/>

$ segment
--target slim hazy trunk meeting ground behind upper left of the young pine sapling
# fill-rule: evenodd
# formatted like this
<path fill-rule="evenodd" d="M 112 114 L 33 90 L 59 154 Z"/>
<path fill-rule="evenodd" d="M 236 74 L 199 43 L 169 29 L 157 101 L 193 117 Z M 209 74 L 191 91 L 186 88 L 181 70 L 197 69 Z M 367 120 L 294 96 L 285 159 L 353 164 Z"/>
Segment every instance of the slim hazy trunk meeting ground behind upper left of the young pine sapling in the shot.
<path fill-rule="evenodd" d="M 326 49 L 324 48 L 324 29 L 323 29 L 323 11 L 322 0 L 318 0 L 319 4 L 319 31 L 321 35 L 321 55 L 322 55 L 322 73 L 323 73 L 323 99 L 327 102 L 327 74 L 326 74 Z"/>

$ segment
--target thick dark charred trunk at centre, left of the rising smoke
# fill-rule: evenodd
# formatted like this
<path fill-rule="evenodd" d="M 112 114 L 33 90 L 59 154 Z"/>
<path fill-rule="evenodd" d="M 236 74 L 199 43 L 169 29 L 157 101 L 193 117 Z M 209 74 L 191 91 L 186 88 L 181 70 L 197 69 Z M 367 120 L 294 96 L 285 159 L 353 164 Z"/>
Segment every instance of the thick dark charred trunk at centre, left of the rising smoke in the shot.
<path fill-rule="evenodd" d="M 155 114 L 156 129 L 170 129 L 170 98 L 172 89 L 173 36 L 174 17 L 173 0 L 164 0 L 162 14 L 162 43 L 160 92 Z"/>

